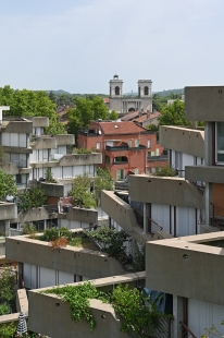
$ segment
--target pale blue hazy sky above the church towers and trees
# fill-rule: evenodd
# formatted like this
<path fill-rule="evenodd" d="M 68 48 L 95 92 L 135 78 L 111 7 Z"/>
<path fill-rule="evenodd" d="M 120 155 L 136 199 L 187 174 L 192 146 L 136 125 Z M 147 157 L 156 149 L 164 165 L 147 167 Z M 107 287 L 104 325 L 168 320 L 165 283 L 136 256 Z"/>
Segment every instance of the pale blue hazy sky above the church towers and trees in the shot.
<path fill-rule="evenodd" d="M 223 0 L 0 0 L 0 86 L 109 94 L 224 84 Z"/>

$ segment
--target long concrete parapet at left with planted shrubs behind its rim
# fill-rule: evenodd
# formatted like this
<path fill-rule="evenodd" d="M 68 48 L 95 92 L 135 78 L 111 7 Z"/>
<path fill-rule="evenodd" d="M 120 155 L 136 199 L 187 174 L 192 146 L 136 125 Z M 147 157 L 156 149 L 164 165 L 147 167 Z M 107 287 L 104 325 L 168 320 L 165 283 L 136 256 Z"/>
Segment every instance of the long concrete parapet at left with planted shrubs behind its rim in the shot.
<path fill-rule="evenodd" d="M 52 250 L 49 243 L 32 240 L 27 236 L 9 237 L 5 240 L 8 259 L 87 276 L 90 279 L 125 274 L 116 259 L 102 252 L 70 245 Z"/>

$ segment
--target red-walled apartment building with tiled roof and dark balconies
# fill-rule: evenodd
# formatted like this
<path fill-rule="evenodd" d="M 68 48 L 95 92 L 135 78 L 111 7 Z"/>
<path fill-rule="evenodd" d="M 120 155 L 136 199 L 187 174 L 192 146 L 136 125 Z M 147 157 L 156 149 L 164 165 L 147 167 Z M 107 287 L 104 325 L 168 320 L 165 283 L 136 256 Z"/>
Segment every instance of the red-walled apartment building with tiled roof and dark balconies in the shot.
<path fill-rule="evenodd" d="M 90 121 L 87 131 L 78 132 L 78 146 L 102 153 L 101 166 L 114 180 L 124 180 L 129 172 L 150 172 L 167 159 L 155 132 L 132 121 Z"/>

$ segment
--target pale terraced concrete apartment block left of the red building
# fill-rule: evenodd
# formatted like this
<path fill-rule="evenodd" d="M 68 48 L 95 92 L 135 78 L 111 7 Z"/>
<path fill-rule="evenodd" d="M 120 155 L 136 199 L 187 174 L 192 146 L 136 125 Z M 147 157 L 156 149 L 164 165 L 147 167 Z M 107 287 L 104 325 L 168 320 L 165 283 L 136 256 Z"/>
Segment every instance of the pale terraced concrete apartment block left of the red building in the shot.
<path fill-rule="evenodd" d="M 45 135 L 43 128 L 49 125 L 48 118 L 7 117 L 1 121 L 0 144 L 8 156 L 1 162 L 1 169 L 14 176 L 18 191 L 28 188 L 30 182 L 38 183 L 48 197 L 45 206 L 26 213 L 21 210 L 11 217 L 10 234 L 18 234 L 22 225 L 27 221 L 33 222 L 38 230 L 47 226 L 67 226 L 72 229 L 98 222 L 97 210 L 79 212 L 65 197 L 77 174 L 96 174 L 97 165 L 102 162 L 101 154 L 71 154 L 74 135 Z M 55 183 L 45 182 L 49 168 Z"/>

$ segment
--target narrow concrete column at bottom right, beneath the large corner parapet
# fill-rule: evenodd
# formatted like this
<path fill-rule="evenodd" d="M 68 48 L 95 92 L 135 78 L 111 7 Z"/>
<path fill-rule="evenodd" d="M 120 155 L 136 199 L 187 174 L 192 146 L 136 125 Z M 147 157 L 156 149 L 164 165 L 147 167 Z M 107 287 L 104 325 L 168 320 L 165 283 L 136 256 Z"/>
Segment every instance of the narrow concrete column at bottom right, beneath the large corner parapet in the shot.
<path fill-rule="evenodd" d="M 183 321 L 183 298 L 175 294 L 173 294 L 173 333 L 171 333 L 171 337 L 179 338 L 182 337 L 182 326 L 179 322 Z"/>

